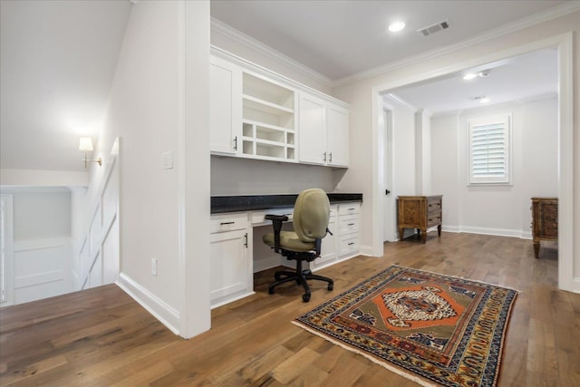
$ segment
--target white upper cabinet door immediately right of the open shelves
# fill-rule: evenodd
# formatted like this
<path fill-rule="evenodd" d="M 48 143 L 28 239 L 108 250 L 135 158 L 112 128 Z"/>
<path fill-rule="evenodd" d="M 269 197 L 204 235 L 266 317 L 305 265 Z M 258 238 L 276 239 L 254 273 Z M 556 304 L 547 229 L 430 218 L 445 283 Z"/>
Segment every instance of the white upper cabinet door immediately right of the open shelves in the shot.
<path fill-rule="evenodd" d="M 300 161 L 325 164 L 326 131 L 324 103 L 307 95 L 300 97 Z"/>

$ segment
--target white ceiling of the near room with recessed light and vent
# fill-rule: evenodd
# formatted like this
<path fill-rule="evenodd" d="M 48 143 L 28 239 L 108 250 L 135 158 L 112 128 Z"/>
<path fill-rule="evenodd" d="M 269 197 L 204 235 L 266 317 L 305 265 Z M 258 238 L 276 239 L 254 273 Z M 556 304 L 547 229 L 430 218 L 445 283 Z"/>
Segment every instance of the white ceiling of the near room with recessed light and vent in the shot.
<path fill-rule="evenodd" d="M 488 34 L 565 1 L 212 0 L 211 15 L 333 81 Z M 401 19 L 401 33 L 387 24 Z M 422 27 L 449 21 L 423 36 Z"/>

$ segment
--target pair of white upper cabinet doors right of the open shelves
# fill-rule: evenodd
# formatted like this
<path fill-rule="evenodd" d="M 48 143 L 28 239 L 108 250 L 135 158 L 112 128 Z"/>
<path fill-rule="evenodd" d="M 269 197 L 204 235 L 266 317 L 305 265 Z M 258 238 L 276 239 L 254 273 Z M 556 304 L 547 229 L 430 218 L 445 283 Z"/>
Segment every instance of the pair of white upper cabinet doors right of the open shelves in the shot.
<path fill-rule="evenodd" d="M 348 111 L 310 94 L 300 96 L 300 161 L 348 167 Z"/>

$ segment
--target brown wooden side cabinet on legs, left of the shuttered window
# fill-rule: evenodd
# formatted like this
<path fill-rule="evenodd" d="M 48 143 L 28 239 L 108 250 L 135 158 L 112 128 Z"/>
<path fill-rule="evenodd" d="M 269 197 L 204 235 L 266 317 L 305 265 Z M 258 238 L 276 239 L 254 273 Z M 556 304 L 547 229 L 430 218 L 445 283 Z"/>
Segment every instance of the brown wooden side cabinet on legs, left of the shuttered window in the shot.
<path fill-rule="evenodd" d="M 405 228 L 416 228 L 423 243 L 427 241 L 427 228 L 437 226 L 441 237 L 442 195 L 400 196 L 397 198 L 397 226 L 399 238 L 403 239 Z"/>

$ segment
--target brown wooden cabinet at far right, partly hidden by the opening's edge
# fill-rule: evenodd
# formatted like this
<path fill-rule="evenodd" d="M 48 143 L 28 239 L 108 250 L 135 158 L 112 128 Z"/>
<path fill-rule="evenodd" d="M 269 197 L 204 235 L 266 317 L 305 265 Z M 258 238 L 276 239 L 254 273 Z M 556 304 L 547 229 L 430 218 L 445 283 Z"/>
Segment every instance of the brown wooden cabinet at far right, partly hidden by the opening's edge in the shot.
<path fill-rule="evenodd" d="M 532 198 L 534 254 L 540 255 L 541 240 L 558 240 L 558 198 Z"/>

